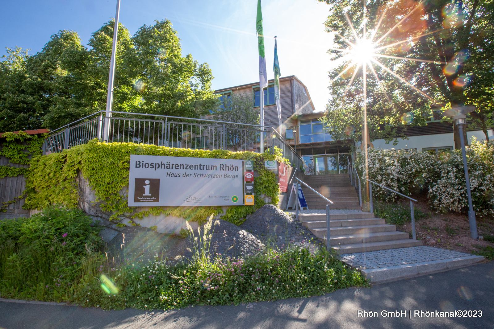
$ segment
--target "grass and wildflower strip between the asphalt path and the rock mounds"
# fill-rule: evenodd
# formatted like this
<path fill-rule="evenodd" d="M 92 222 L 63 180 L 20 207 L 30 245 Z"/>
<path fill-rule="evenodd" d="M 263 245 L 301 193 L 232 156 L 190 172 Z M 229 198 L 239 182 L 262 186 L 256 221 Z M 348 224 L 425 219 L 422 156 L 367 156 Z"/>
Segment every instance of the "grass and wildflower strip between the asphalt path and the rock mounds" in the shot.
<path fill-rule="evenodd" d="M 17 240 L 0 236 L 2 297 L 64 300 L 105 309 L 149 310 L 307 297 L 351 286 L 368 286 L 359 271 L 324 248 L 310 252 L 283 246 L 278 250 L 274 244 L 268 244 L 255 256 L 228 259 L 212 255 L 209 252 L 212 219 L 197 236 L 189 230 L 194 241 L 191 259 L 170 260 L 162 254 L 156 254 L 147 262 L 108 259 L 101 244 L 88 244 L 94 242 L 97 228 L 89 235 L 80 230 L 84 238 L 74 236 L 76 244 L 62 243 L 63 232 L 73 224 L 60 223 L 74 218 L 70 212 L 75 212 L 79 222 L 89 220 L 77 211 L 64 210 L 53 212 L 51 216 L 46 215 L 49 211 L 43 211 L 45 215 L 35 221 L 48 231 L 52 230 L 50 225 L 56 226 L 57 229 L 52 230 L 56 239 L 51 234 L 42 234 L 42 230 L 40 234 L 40 229 L 35 231 L 41 242 L 33 240 L 30 245 L 23 243 L 22 235 L 18 235 Z M 14 222 L 9 225 L 29 224 L 33 228 L 30 219 L 20 222 L 20 225 Z M 46 241 L 50 243 L 45 244 Z M 44 247 L 36 249 L 33 245 Z M 72 249 L 64 249 L 66 246 Z"/>

